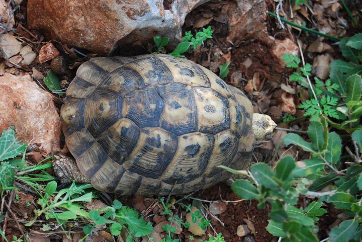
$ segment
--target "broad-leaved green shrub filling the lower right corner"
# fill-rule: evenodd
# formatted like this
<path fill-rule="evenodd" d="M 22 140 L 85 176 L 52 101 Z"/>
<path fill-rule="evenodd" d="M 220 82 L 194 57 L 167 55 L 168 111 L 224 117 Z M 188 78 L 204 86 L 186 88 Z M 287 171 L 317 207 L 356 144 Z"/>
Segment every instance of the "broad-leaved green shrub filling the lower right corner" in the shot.
<path fill-rule="evenodd" d="M 284 142 L 311 152 L 312 158 L 296 163 L 287 156 L 279 160 L 274 168 L 263 163 L 254 164 L 250 169 L 250 180 L 237 180 L 232 189 L 242 199 L 257 200 L 259 208 L 263 208 L 265 202 L 272 206 L 266 229 L 282 237 L 282 241 L 319 241 L 315 235 L 316 225 L 318 217 L 327 212 L 323 208 L 325 203 L 344 209 L 349 217 L 343 224 L 331 229 L 330 241 L 359 241 L 362 234 L 359 217 L 362 212 L 362 166 L 358 159 L 362 153 L 342 172 L 341 138 L 335 132 L 328 132 L 327 121 L 311 122 L 308 136 L 311 142 L 297 134 L 288 134 Z M 361 150 L 362 131 L 354 131 L 352 138 Z M 330 184 L 334 184 L 333 190 L 317 192 Z M 319 199 L 303 209 L 297 206 L 300 195 Z M 348 236 L 340 236 L 344 233 Z"/>

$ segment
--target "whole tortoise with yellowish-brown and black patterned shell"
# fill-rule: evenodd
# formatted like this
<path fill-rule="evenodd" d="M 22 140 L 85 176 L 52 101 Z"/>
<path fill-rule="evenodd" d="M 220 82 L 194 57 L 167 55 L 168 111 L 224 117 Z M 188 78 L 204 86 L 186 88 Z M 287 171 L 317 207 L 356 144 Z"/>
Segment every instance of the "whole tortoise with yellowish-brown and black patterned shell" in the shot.
<path fill-rule="evenodd" d="M 170 55 L 96 57 L 79 66 L 61 108 L 75 179 L 123 195 L 184 194 L 245 169 L 255 136 L 276 124 L 207 68 Z M 254 122 L 252 121 L 254 119 Z"/>

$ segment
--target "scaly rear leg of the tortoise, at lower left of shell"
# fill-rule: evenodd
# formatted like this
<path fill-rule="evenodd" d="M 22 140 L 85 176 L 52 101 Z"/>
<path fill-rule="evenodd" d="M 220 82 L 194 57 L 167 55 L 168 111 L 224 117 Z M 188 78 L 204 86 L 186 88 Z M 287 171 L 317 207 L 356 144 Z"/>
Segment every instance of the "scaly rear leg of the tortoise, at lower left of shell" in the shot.
<path fill-rule="evenodd" d="M 74 159 L 62 154 L 54 155 L 56 160 L 53 163 L 53 170 L 61 184 L 58 188 L 68 186 L 73 180 L 78 183 L 91 183 L 78 169 Z"/>

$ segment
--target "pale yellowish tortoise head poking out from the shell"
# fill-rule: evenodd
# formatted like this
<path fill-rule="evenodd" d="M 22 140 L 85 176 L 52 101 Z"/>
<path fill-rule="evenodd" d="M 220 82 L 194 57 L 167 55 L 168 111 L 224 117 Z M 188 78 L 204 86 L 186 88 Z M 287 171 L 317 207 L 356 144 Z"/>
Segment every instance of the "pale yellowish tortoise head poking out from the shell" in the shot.
<path fill-rule="evenodd" d="M 252 119 L 252 129 L 256 139 L 265 138 L 271 134 L 277 124 L 265 114 L 254 113 Z"/>

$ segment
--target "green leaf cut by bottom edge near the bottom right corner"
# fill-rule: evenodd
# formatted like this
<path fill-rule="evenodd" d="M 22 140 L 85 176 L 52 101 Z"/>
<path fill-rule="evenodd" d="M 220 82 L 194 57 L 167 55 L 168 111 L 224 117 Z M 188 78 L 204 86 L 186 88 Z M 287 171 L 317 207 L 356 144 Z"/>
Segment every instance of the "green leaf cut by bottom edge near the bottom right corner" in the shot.
<path fill-rule="evenodd" d="M 329 232 L 330 242 L 348 242 L 356 231 L 357 226 L 358 222 L 353 219 L 344 220 Z"/>

